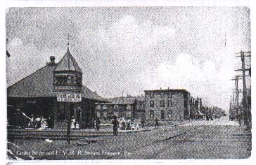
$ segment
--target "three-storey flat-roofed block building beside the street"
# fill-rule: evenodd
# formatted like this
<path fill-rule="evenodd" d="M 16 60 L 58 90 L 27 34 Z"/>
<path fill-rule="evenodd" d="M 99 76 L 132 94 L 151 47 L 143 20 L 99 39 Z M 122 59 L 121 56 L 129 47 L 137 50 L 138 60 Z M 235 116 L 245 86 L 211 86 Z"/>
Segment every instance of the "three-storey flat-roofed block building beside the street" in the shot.
<path fill-rule="evenodd" d="M 190 117 L 190 93 L 186 89 L 145 90 L 146 120 L 182 120 Z"/>

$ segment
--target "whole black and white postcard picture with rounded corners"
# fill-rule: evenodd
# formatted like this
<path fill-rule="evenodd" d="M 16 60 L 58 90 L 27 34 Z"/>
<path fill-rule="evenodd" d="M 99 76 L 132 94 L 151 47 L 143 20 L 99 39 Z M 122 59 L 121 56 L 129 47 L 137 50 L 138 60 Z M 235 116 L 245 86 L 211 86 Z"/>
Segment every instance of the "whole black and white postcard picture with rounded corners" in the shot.
<path fill-rule="evenodd" d="M 246 6 L 6 8 L 6 159 L 249 159 Z"/>

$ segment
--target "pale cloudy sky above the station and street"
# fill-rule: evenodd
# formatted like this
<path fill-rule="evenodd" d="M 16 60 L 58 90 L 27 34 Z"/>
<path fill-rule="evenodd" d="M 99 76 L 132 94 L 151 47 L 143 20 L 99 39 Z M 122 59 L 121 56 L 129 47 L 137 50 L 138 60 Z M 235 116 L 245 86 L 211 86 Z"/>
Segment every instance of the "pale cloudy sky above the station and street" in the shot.
<path fill-rule="evenodd" d="M 58 62 L 67 51 L 68 34 L 84 85 L 103 97 L 169 87 L 187 89 L 205 106 L 227 110 L 235 84 L 231 78 L 241 68 L 236 53 L 250 51 L 250 10 L 8 8 L 7 86 L 45 66 L 50 56 Z"/>

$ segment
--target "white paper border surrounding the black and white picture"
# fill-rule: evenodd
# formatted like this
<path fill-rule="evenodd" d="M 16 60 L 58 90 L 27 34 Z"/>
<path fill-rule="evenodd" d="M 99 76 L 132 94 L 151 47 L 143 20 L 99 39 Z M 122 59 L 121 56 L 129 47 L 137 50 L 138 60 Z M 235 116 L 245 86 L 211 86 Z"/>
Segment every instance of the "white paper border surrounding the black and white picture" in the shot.
<path fill-rule="evenodd" d="M 61 7 L 61 6 L 247 6 L 251 9 L 251 39 L 252 39 L 252 156 L 249 159 L 174 159 L 174 160 L 82 160 L 82 161 L 40 161 L 40 162 L 13 162 L 13 164 L 253 164 L 256 162 L 255 157 L 255 73 L 253 67 L 256 67 L 255 52 L 255 2 L 250 0 L 9 0 L 1 1 L 0 13 L 0 73 L 2 80 L 0 81 L 0 160 L 1 164 L 6 164 L 6 48 L 5 48 L 5 10 L 8 7 Z"/>

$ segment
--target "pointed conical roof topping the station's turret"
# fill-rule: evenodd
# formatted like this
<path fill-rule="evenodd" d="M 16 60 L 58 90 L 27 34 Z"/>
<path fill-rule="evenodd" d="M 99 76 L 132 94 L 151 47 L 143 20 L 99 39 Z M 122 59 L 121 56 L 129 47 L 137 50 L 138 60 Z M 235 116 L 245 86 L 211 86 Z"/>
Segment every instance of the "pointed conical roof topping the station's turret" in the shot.
<path fill-rule="evenodd" d="M 72 57 L 70 50 L 65 53 L 58 66 L 54 71 L 78 71 L 82 73 L 82 69 L 79 67 L 74 57 Z"/>

